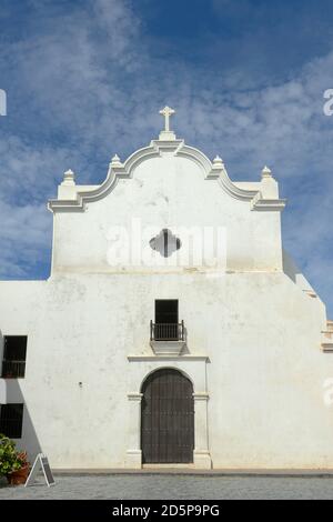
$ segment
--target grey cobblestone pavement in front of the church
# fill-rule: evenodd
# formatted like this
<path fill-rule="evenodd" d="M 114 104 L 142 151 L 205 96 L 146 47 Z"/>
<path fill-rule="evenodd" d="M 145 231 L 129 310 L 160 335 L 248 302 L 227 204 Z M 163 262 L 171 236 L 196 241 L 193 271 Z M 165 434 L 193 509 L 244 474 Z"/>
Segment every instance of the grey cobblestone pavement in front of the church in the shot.
<path fill-rule="evenodd" d="M 56 475 L 52 488 L 41 479 L 30 488 L 1 481 L 4 499 L 333 499 L 333 476 Z"/>

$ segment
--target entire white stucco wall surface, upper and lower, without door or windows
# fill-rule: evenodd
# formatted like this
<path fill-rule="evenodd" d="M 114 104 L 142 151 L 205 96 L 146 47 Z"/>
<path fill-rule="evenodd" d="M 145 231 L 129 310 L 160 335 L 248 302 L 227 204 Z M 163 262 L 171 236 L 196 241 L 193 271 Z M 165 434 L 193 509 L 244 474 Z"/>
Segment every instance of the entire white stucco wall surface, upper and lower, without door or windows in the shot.
<path fill-rule="evenodd" d="M 78 188 L 68 187 L 60 194 L 73 200 Z M 325 308 L 286 258 L 282 270 L 276 182 L 238 187 L 260 190 L 264 211 L 205 179 L 191 159 L 139 161 L 84 211 L 54 213 L 48 281 L 0 282 L 0 354 L 3 335 L 28 335 L 26 378 L 0 379 L 0 403 L 24 402 L 18 444 L 31 459 L 43 451 L 53 468 L 128 465 L 129 451 L 140 450 L 141 384 L 168 367 L 192 380 L 196 419 L 208 408 L 195 443 L 208 444 L 213 468 L 333 469 Z M 133 218 L 157 231 L 221 227 L 226 257 L 213 270 L 110 265 L 110 227 L 130 230 Z M 179 300 L 188 332 L 180 357 L 153 355 L 155 299 Z"/>

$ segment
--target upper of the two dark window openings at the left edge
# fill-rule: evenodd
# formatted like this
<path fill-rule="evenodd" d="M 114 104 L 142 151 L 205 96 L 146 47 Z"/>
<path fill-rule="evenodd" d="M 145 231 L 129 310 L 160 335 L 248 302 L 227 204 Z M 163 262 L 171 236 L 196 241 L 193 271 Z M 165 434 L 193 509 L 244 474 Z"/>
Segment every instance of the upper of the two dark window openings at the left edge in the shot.
<path fill-rule="evenodd" d="M 6 335 L 2 360 L 3 379 L 23 378 L 26 374 L 27 335 Z"/>

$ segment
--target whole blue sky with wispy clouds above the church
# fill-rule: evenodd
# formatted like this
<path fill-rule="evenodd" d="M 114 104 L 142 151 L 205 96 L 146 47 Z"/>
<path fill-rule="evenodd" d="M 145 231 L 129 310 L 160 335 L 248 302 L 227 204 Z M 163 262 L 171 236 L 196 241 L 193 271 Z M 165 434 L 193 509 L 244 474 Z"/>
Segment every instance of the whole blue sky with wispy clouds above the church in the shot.
<path fill-rule="evenodd" d="M 0 23 L 1 279 L 48 277 L 63 171 L 101 182 L 168 103 L 178 135 L 232 179 L 273 170 L 284 245 L 333 318 L 332 1 L 1 0 Z"/>

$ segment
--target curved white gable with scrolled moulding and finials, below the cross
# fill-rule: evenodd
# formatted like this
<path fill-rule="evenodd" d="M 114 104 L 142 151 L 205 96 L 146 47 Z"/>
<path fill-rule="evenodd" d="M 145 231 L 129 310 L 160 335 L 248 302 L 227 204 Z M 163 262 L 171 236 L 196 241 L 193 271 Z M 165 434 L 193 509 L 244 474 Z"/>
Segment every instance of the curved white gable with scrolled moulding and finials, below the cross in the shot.
<path fill-rule="evenodd" d="M 128 242 L 140 237 L 141 243 L 131 248 L 149 257 L 151 240 L 167 229 L 183 244 L 171 261 L 175 255 L 190 255 L 194 240 L 189 237 L 200 230 L 203 238 L 210 229 L 214 237 L 224 234 L 219 270 L 222 265 L 228 270 L 281 270 L 280 211 L 284 205 L 268 168 L 261 181 L 232 182 L 221 158 L 211 161 L 173 132 L 162 131 L 158 140 L 124 162 L 113 157 L 98 187 L 77 185 L 73 172 L 64 174 L 58 199 L 49 201 L 54 214 L 52 271 L 133 271 L 133 257 L 110 265 L 107 252 L 114 237 L 122 234 Z M 140 230 L 135 229 L 138 222 Z M 209 254 L 208 265 L 214 255 Z M 205 270 L 203 261 L 194 264 Z"/>

